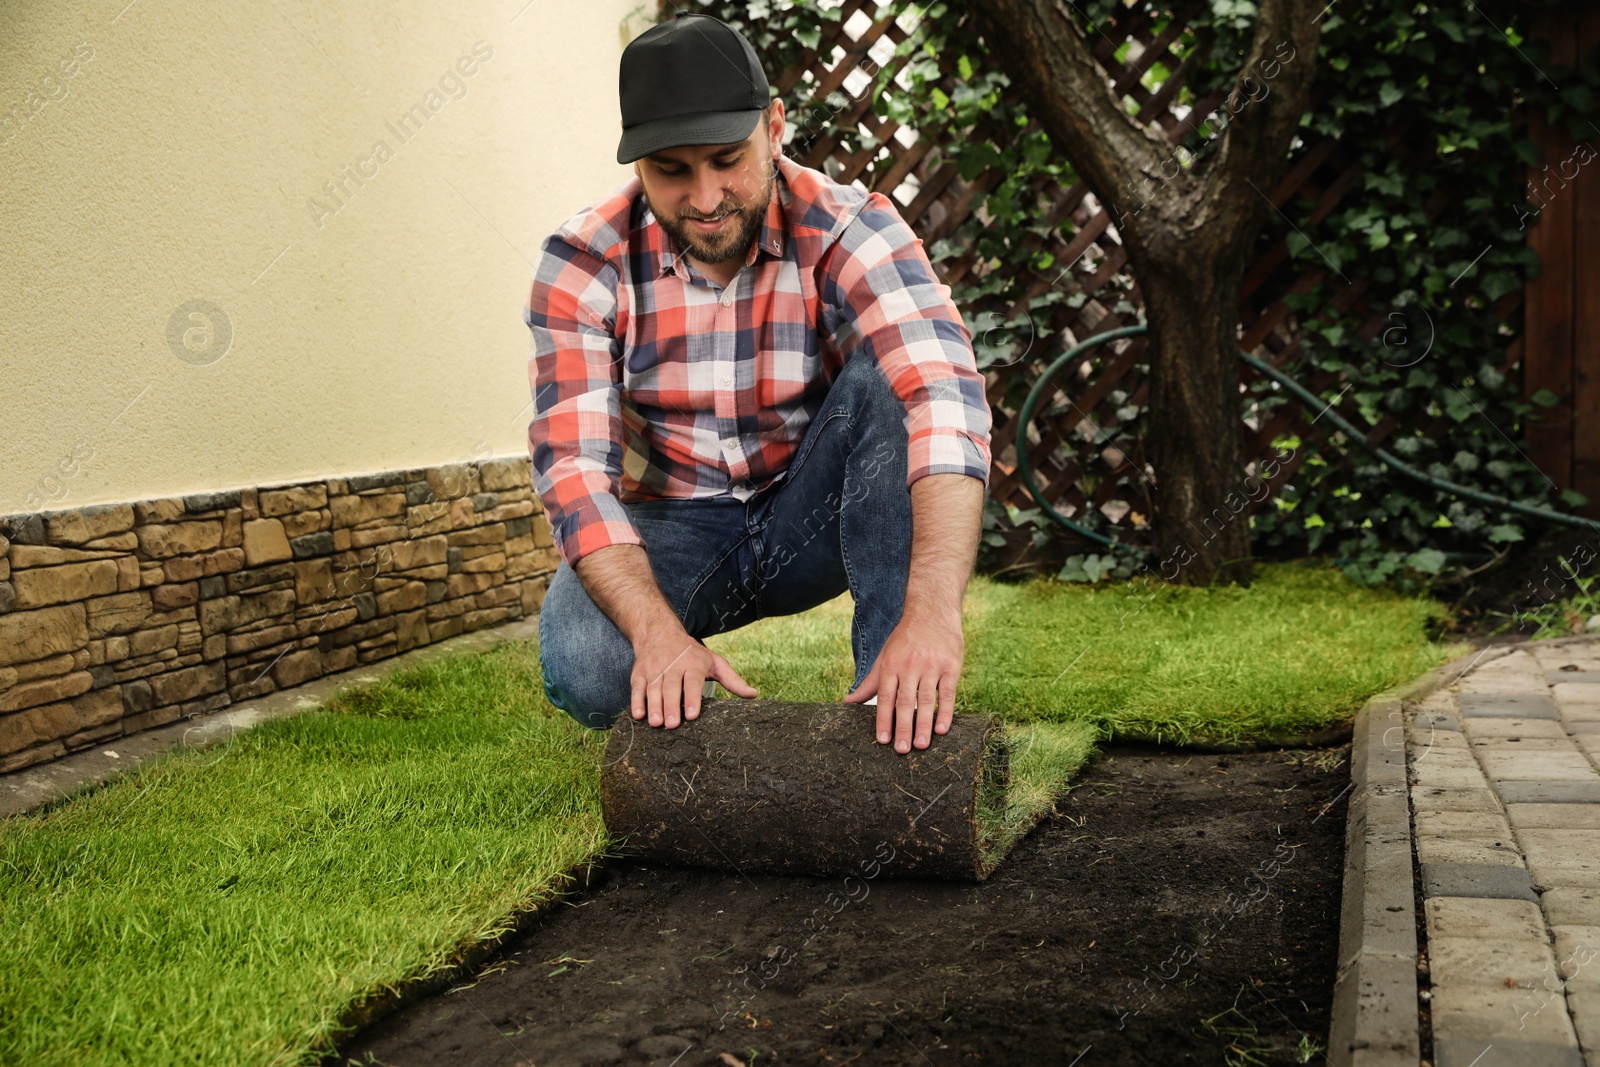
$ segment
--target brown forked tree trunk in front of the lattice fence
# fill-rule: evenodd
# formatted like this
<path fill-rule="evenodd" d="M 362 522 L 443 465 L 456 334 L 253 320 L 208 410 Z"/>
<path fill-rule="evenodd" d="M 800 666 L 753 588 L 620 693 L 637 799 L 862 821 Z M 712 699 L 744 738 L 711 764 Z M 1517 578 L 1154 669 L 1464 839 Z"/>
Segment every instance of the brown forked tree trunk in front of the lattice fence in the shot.
<path fill-rule="evenodd" d="M 1112 213 L 1144 294 L 1155 568 L 1192 585 L 1250 581 L 1238 288 L 1310 96 L 1322 0 L 1261 0 L 1219 147 L 1198 163 L 1128 115 L 1070 10 L 970 6 L 1032 117 Z"/>

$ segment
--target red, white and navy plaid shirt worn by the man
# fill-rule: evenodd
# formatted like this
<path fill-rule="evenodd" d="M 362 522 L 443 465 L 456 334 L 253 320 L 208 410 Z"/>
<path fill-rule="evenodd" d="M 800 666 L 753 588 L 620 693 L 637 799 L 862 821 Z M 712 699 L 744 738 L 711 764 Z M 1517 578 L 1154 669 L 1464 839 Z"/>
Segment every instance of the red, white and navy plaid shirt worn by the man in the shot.
<path fill-rule="evenodd" d="M 922 242 L 882 194 L 792 160 L 726 290 L 678 253 L 634 179 L 546 238 L 525 322 L 533 482 L 568 565 L 643 545 L 624 501 L 768 488 L 861 347 L 906 403 L 907 485 L 989 483 L 984 379 Z"/>

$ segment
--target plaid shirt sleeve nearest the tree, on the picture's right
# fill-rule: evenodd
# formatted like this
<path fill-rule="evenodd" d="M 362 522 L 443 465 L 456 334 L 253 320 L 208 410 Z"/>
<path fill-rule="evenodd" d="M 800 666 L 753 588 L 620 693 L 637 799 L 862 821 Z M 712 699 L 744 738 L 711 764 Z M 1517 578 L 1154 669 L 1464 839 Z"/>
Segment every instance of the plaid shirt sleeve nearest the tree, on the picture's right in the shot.
<path fill-rule="evenodd" d="M 971 334 L 922 240 L 882 194 L 829 250 L 822 293 L 845 358 L 867 346 L 906 403 L 906 483 L 966 474 L 987 488 L 994 421 Z"/>

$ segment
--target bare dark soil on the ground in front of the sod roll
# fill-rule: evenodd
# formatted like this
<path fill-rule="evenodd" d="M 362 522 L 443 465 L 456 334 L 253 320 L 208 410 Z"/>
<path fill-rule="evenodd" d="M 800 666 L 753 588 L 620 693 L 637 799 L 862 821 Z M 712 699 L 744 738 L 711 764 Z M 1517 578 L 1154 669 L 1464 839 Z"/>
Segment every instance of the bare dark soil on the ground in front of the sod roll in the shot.
<path fill-rule="evenodd" d="M 1346 755 L 1110 745 L 981 885 L 618 862 L 331 1062 L 1317 1062 Z"/>

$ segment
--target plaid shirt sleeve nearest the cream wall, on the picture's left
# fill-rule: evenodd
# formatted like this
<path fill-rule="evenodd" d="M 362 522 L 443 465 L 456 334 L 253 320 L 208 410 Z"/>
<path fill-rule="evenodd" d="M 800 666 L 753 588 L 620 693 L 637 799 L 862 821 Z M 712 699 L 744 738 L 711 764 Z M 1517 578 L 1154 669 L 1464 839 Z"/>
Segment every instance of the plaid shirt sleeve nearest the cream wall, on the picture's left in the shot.
<path fill-rule="evenodd" d="M 622 474 L 618 270 L 562 234 L 544 242 L 528 294 L 533 485 L 568 566 L 645 539 L 618 496 Z"/>

